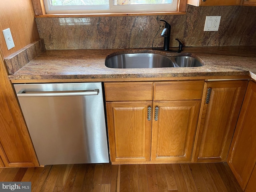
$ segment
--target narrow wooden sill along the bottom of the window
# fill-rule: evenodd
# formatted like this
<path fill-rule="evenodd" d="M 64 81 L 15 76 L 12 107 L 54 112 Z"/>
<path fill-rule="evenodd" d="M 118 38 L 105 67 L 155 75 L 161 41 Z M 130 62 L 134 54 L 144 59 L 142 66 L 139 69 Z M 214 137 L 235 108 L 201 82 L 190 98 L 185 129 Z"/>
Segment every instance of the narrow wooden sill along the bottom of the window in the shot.
<path fill-rule="evenodd" d="M 138 13 L 92 13 L 92 14 L 43 14 L 36 18 L 54 17 L 115 17 L 115 16 L 154 16 L 154 15 L 185 15 L 186 12 L 138 12 Z"/>

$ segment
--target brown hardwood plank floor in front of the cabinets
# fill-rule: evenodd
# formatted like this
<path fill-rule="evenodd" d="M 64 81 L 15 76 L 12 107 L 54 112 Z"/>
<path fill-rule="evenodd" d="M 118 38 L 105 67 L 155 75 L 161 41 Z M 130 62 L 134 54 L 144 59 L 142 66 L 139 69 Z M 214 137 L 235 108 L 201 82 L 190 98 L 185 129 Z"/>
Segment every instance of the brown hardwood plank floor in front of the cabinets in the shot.
<path fill-rule="evenodd" d="M 242 192 L 226 163 L 0 168 L 0 181 L 31 181 L 32 192 Z"/>

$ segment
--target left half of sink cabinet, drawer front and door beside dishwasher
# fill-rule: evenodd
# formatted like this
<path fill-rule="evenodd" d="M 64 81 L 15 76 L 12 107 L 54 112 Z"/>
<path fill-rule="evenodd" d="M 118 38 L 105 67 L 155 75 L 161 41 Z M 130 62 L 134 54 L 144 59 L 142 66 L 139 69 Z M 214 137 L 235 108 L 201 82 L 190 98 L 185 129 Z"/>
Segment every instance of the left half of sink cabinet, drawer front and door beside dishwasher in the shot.
<path fill-rule="evenodd" d="M 110 82 L 104 87 L 111 162 L 149 161 L 153 82 Z"/>

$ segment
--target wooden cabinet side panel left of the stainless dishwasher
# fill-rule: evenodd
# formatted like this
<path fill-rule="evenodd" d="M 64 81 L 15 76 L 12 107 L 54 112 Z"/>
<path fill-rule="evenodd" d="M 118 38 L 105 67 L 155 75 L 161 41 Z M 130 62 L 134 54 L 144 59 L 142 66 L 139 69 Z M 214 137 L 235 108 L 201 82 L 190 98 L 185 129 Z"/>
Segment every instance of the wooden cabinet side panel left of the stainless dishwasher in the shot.
<path fill-rule="evenodd" d="M 0 53 L 0 166 L 39 166 L 2 58 Z"/>

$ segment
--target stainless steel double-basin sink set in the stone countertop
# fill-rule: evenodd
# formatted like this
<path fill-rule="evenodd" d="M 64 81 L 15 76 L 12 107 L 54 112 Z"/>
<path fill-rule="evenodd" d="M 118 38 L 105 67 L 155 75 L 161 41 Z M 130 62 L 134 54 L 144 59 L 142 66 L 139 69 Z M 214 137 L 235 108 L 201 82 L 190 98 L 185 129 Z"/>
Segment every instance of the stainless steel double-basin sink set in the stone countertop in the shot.
<path fill-rule="evenodd" d="M 199 67 L 202 62 L 192 56 L 163 56 L 155 53 L 126 53 L 107 57 L 108 68 Z"/>

